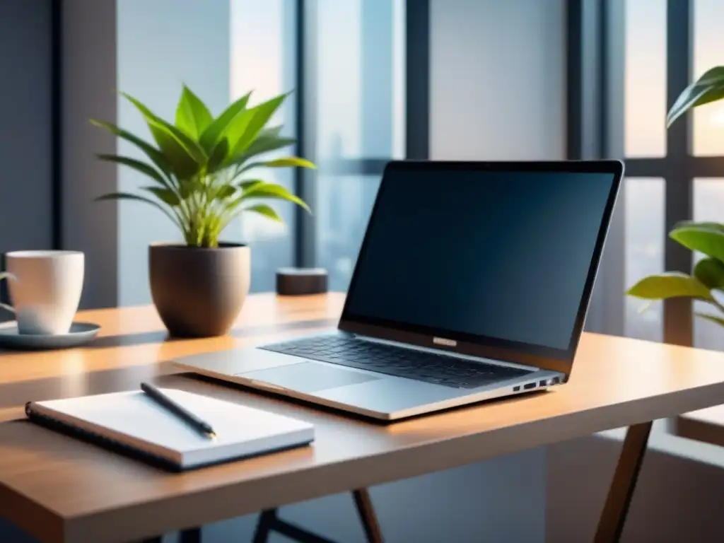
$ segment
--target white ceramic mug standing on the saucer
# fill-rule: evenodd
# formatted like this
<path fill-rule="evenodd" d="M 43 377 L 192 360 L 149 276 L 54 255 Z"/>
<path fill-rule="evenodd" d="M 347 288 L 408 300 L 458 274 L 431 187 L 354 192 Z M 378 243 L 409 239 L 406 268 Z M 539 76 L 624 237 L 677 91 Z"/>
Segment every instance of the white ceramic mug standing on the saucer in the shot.
<path fill-rule="evenodd" d="M 83 292 L 80 251 L 6 253 L 12 308 L 20 334 L 67 334 Z"/>

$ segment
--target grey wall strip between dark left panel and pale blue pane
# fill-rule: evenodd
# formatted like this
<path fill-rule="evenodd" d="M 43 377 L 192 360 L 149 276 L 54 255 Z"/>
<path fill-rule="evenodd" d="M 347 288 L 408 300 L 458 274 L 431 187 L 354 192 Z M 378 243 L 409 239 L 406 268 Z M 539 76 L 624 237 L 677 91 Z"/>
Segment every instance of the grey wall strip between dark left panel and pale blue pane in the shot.
<path fill-rule="evenodd" d="M 116 122 L 115 0 L 64 0 L 62 13 L 62 220 L 64 248 L 85 252 L 81 308 L 117 305 L 117 169 L 95 153 L 115 138 L 90 119 Z"/>

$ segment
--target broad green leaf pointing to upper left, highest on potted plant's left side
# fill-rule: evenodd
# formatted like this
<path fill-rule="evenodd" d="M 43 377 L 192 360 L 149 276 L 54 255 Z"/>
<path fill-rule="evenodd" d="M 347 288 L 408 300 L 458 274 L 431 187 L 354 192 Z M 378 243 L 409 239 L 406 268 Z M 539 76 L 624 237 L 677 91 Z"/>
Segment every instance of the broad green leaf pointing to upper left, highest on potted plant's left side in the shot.
<path fill-rule="evenodd" d="M 206 164 L 206 153 L 203 148 L 184 132 L 174 125 L 169 124 L 160 117 L 157 117 L 150 109 L 140 103 L 132 96 L 121 93 L 133 104 L 146 119 L 146 124 L 151 130 L 153 139 L 161 148 L 172 167 L 172 171 L 179 179 L 187 179 L 198 172 L 201 166 Z"/>

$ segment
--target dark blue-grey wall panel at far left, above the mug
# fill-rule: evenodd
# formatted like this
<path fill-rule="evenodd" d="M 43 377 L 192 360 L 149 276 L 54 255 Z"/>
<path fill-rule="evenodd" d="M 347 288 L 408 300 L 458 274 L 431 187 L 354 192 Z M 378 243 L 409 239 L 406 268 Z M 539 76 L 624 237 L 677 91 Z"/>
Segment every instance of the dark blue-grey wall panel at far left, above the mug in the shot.
<path fill-rule="evenodd" d="M 49 1 L 0 0 L 0 254 L 53 241 L 50 25 Z"/>

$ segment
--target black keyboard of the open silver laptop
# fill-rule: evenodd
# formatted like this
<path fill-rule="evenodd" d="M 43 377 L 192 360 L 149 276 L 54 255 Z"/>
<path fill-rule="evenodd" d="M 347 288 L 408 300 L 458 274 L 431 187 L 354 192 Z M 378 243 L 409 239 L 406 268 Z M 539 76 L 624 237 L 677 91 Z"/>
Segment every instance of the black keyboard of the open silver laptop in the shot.
<path fill-rule="evenodd" d="M 533 373 L 353 337 L 307 337 L 262 349 L 452 388 L 477 388 Z"/>

